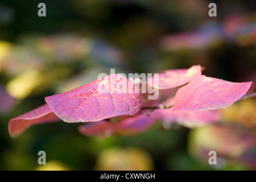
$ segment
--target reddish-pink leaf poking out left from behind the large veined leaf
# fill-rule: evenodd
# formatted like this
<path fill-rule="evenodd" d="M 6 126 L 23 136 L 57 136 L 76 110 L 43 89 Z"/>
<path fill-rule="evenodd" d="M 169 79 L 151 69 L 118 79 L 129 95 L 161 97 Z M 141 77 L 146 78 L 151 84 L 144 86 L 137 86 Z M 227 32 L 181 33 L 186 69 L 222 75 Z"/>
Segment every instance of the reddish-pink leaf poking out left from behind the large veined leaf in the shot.
<path fill-rule="evenodd" d="M 60 118 L 52 112 L 51 108 L 47 104 L 44 104 L 43 106 L 11 119 L 8 129 L 11 137 L 16 138 L 32 125 L 56 122 L 59 120 Z"/>

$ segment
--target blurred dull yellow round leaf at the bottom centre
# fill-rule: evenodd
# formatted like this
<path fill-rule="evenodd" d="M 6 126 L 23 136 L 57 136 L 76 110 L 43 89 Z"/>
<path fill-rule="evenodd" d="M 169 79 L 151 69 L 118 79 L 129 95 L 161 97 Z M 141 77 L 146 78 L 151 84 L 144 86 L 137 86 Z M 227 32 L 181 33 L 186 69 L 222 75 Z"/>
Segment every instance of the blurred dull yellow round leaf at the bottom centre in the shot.
<path fill-rule="evenodd" d="M 97 158 L 97 171 L 148 171 L 154 163 L 146 151 L 137 147 L 112 147 L 102 151 Z"/>

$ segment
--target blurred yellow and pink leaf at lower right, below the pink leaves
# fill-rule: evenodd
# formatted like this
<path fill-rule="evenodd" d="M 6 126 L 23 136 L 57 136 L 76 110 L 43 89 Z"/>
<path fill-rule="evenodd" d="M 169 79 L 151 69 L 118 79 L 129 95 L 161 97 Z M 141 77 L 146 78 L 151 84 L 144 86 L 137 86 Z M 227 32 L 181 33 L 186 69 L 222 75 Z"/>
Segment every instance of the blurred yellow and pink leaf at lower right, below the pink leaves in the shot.
<path fill-rule="evenodd" d="M 232 125 L 208 125 L 191 131 L 188 149 L 192 156 L 208 163 L 209 151 L 216 151 L 218 157 L 235 158 L 254 147 L 255 142 L 254 135 L 246 130 Z"/>

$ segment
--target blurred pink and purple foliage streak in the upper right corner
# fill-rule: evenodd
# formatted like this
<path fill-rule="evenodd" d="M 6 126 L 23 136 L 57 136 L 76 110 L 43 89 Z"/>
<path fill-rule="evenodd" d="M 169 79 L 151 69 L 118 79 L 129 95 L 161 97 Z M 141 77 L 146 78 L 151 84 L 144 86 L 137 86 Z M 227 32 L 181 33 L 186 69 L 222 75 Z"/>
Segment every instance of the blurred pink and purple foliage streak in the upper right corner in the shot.
<path fill-rule="evenodd" d="M 256 40 L 255 15 L 230 15 L 223 22 L 207 22 L 193 31 L 184 31 L 163 36 L 160 49 L 204 49 L 218 42 L 237 43 L 250 46 Z"/>

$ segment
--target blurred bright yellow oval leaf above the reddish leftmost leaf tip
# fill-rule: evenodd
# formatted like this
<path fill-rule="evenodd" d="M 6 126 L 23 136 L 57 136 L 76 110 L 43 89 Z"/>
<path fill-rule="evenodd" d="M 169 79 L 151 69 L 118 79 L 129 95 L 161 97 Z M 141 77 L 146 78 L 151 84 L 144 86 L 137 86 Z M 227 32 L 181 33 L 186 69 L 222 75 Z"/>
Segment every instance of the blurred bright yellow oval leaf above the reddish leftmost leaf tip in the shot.
<path fill-rule="evenodd" d="M 18 99 L 27 97 L 43 82 L 44 76 L 35 69 L 27 69 L 10 80 L 6 86 L 10 96 Z"/>

